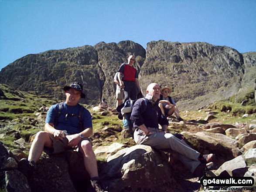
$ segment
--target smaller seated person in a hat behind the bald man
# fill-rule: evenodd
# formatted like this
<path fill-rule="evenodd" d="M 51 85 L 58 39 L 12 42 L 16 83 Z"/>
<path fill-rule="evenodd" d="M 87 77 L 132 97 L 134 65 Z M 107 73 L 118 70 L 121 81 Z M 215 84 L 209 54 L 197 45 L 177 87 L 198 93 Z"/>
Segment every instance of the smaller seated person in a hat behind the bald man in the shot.
<path fill-rule="evenodd" d="M 161 88 L 159 100 L 165 100 L 166 102 L 159 103 L 159 107 L 164 115 L 170 116 L 174 113 L 179 121 L 183 121 L 183 118 L 180 116 L 177 104 L 175 103 L 174 99 L 169 96 L 171 91 L 172 89 L 167 86 Z"/>

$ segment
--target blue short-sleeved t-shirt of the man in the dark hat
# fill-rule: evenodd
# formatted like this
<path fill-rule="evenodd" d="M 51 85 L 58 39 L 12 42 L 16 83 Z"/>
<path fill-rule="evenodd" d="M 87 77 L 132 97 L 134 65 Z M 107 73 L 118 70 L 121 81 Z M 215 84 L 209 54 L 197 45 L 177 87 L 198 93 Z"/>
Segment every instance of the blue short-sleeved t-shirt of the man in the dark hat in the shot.
<path fill-rule="evenodd" d="M 64 102 L 64 105 L 61 107 L 61 115 L 57 119 L 57 125 L 55 125 L 55 129 L 58 130 L 66 130 L 68 134 L 76 134 L 80 133 L 82 130 L 80 129 L 79 124 L 79 109 L 80 104 L 75 106 L 67 105 Z M 58 115 L 59 107 L 58 104 L 54 104 L 48 110 L 45 123 L 55 123 L 55 117 Z M 68 114 L 68 115 L 65 115 Z M 72 116 L 72 114 L 76 114 Z M 66 116 L 66 117 L 65 117 Z M 92 115 L 87 109 L 83 109 L 82 111 L 82 121 L 83 121 L 83 130 L 86 128 L 92 128 Z"/>

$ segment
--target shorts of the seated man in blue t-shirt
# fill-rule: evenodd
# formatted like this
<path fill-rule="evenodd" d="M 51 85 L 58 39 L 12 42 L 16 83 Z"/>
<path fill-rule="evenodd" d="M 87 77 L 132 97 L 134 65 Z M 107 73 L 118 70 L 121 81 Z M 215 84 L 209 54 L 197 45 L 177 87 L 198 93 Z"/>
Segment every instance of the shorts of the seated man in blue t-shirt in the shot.
<path fill-rule="evenodd" d="M 68 139 L 65 137 L 63 138 L 62 140 L 60 139 L 56 139 L 54 137 L 54 135 L 49 134 L 49 137 L 51 138 L 51 141 L 52 141 L 52 148 L 48 148 L 48 147 L 44 147 L 44 152 L 46 152 L 48 155 L 51 155 L 51 154 L 56 154 L 56 153 L 62 153 L 62 152 L 65 152 L 69 149 L 76 149 L 76 148 L 79 148 L 81 147 L 81 142 L 84 141 L 84 140 L 87 140 L 87 141 L 90 141 L 89 138 L 82 138 L 81 141 L 79 142 L 78 146 L 73 148 L 73 147 L 69 147 L 68 146 Z M 90 141 L 91 145 L 92 145 L 92 142 Z"/>

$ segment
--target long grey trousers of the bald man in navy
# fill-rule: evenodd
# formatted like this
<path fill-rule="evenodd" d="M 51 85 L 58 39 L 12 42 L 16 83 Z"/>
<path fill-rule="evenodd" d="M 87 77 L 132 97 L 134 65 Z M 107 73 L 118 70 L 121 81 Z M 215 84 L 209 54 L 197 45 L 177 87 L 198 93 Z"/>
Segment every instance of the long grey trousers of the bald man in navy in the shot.
<path fill-rule="evenodd" d="M 148 128 L 152 135 L 145 135 L 143 131 L 137 128 L 134 131 L 134 141 L 137 144 L 149 145 L 152 148 L 168 149 L 178 153 L 179 160 L 191 171 L 194 172 L 195 168 L 201 163 L 198 160 L 199 152 L 192 149 L 184 141 L 178 139 L 171 133 L 158 132 L 156 128 Z"/>

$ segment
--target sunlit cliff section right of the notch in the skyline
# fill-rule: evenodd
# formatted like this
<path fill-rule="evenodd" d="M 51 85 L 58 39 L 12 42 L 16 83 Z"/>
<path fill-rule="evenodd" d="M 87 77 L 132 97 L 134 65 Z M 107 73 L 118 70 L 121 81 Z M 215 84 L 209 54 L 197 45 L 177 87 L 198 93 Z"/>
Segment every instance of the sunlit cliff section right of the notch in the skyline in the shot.
<path fill-rule="evenodd" d="M 229 47 L 160 40 L 147 44 L 141 75 L 171 86 L 174 97 L 194 99 L 230 87 L 244 74 L 243 63 L 242 54 Z"/>

